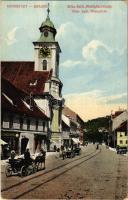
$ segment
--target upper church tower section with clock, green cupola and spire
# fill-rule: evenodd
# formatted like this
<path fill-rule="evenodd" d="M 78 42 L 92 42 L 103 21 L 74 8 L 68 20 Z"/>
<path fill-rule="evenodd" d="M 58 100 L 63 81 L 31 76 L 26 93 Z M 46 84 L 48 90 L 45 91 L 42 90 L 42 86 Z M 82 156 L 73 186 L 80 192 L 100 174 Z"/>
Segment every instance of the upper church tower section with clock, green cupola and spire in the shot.
<path fill-rule="evenodd" d="M 50 20 L 50 9 L 48 4 L 47 16 L 41 24 L 40 38 L 33 42 L 35 49 L 35 71 L 50 71 L 52 76 L 59 78 L 59 54 L 61 49 L 59 43 L 55 41 L 56 29 Z"/>

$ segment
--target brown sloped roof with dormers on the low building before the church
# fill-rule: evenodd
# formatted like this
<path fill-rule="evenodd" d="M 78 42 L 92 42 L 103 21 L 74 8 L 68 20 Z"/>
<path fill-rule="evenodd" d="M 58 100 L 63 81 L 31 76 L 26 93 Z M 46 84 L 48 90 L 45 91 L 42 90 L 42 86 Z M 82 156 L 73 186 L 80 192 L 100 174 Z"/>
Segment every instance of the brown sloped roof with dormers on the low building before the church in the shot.
<path fill-rule="evenodd" d="M 31 99 L 32 109 L 25 101 L 25 97 L 29 94 L 19 90 L 13 84 L 6 79 L 1 79 L 1 109 L 6 111 L 12 111 L 18 114 L 26 114 L 30 117 L 44 118 L 48 120 L 48 117 L 41 111 L 33 99 Z"/>

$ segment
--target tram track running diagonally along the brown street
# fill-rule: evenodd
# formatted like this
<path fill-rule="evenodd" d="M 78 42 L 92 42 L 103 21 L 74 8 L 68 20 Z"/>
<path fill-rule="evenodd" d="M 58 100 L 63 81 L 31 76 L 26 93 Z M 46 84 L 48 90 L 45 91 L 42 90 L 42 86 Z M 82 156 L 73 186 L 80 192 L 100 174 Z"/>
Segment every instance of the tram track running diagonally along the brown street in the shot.
<path fill-rule="evenodd" d="M 36 188 L 56 179 L 57 177 L 63 175 L 64 173 L 68 172 L 69 170 L 73 169 L 74 167 L 77 167 L 84 163 L 85 161 L 88 161 L 89 159 L 92 159 L 93 157 L 97 156 L 100 153 L 99 150 L 93 151 L 90 154 L 86 154 L 84 156 L 81 156 L 79 158 L 76 158 L 70 162 L 66 162 L 62 165 L 59 165 L 53 169 L 50 169 L 43 174 L 37 174 L 34 177 L 30 177 L 26 180 L 23 180 L 17 184 L 11 185 L 10 187 L 4 188 L 1 190 L 2 196 L 7 198 L 9 194 L 11 194 L 11 199 L 18 199 L 27 193 L 36 190 Z M 40 177 L 40 179 L 39 179 Z M 21 192 L 20 191 L 23 191 Z M 10 198 L 10 197 L 9 197 Z"/>

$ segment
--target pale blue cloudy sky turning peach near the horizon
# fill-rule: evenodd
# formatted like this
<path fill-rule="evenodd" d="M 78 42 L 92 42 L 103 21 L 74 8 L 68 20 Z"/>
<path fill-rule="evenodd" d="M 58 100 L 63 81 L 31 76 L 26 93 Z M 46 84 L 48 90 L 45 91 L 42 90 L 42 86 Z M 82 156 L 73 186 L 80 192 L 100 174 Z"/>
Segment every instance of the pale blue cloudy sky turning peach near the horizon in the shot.
<path fill-rule="evenodd" d="M 1 60 L 34 60 L 48 1 L 1 3 Z M 18 7 L 18 8 L 16 8 Z M 123 1 L 50 1 L 65 104 L 87 121 L 127 106 L 127 7 Z"/>

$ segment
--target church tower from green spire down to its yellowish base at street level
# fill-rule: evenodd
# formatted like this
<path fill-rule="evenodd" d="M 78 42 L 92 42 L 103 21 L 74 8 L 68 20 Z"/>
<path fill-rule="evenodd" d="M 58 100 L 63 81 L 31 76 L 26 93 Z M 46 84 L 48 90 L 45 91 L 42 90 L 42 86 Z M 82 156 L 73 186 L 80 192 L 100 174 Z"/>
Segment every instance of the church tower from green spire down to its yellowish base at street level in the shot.
<path fill-rule="evenodd" d="M 49 4 L 46 20 L 41 24 L 40 38 L 33 42 L 35 49 L 35 71 L 51 71 L 49 90 L 49 105 L 52 106 L 51 118 L 51 139 L 58 142 L 61 137 L 61 115 L 63 99 L 61 95 L 62 83 L 59 79 L 59 56 L 61 49 L 59 43 L 55 40 L 56 29 L 50 20 Z M 60 143 L 60 142 L 59 142 Z"/>

